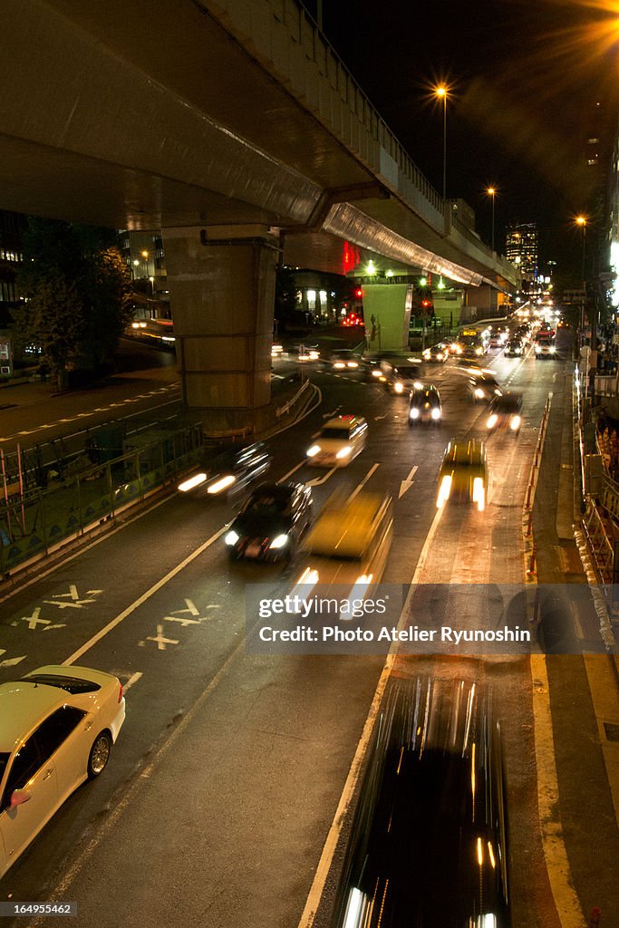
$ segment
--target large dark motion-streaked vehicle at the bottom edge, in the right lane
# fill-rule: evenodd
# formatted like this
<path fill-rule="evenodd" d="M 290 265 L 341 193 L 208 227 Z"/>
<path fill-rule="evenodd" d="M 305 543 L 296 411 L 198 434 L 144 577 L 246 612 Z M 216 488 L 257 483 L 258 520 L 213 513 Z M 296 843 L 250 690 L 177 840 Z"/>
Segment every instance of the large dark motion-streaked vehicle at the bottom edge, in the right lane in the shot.
<path fill-rule="evenodd" d="M 344 853 L 336 928 L 509 928 L 507 800 L 490 692 L 385 694 Z"/>

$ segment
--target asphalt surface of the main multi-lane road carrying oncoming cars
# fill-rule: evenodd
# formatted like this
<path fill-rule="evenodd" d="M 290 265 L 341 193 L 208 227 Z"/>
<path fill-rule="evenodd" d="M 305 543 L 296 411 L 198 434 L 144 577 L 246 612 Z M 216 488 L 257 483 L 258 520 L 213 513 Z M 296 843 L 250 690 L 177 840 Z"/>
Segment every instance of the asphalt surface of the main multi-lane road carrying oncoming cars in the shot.
<path fill-rule="evenodd" d="M 564 362 L 496 352 L 485 361 L 524 404 L 520 435 L 488 440 L 483 513 L 435 505 L 446 442 L 485 432 L 485 406 L 471 402 L 453 361 L 424 371 L 441 390 L 442 424 L 412 429 L 406 398 L 359 373 L 308 367 L 322 403 L 269 441 L 270 476 L 312 483 L 316 511 L 336 488 L 392 494 L 385 583 L 520 585 L 523 497 L 544 406 L 564 390 Z M 308 467 L 311 436 L 342 413 L 367 417 L 366 449 L 345 469 Z M 246 615 L 246 585 L 283 596 L 295 566 L 230 565 L 222 535 L 233 512 L 200 493 L 166 498 L 0 601 L 0 680 L 69 662 L 114 673 L 128 688 L 109 767 L 62 806 L 0 882 L 0 898 L 77 902 L 77 920 L 57 922 L 80 928 L 299 924 L 384 656 L 252 652 L 257 616 Z M 458 587 L 450 596 L 445 615 L 462 609 Z M 408 599 L 406 622 L 414 608 Z M 505 741 L 513 923 L 559 925 L 538 823 L 528 656 L 404 654 L 393 673 L 492 687 Z M 329 923 L 346 820 L 320 885 L 318 928 Z M 46 922 L 6 920 L 18 923 Z"/>

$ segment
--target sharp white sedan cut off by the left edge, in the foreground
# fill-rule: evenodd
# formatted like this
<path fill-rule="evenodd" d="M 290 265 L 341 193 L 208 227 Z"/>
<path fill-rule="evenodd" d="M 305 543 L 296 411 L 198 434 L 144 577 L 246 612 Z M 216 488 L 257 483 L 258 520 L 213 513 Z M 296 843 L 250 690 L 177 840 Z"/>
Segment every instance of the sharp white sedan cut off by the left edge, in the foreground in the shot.
<path fill-rule="evenodd" d="M 0 685 L 0 877 L 84 780 L 124 721 L 117 677 L 47 665 Z"/>

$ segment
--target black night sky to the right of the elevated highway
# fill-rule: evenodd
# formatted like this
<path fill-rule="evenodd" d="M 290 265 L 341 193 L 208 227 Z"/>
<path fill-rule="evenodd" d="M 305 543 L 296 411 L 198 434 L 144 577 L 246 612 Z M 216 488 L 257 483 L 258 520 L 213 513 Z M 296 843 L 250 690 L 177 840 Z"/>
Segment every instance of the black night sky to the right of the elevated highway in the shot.
<path fill-rule="evenodd" d="M 316 3 L 305 4 L 316 16 Z M 540 264 L 578 264 L 576 213 L 593 217 L 584 141 L 612 145 L 619 110 L 617 0 L 323 0 L 329 43 L 419 169 L 467 200 L 496 247 L 509 222 L 536 221 Z M 597 106 L 599 104 L 599 106 Z M 558 268 L 559 270 L 559 268 Z"/>

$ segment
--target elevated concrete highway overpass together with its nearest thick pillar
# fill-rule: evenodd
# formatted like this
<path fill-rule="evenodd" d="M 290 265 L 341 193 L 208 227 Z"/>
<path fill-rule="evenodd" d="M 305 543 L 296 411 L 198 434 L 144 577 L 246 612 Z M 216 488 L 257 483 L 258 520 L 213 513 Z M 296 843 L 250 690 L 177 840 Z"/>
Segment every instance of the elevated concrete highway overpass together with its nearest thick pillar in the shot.
<path fill-rule="evenodd" d="M 269 402 L 277 263 L 511 289 L 294 0 L 7 0 L 0 204 L 161 228 L 186 402 Z"/>

